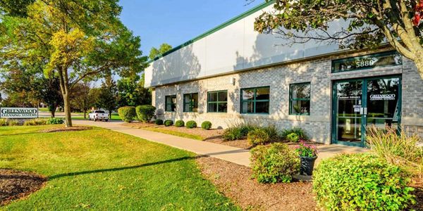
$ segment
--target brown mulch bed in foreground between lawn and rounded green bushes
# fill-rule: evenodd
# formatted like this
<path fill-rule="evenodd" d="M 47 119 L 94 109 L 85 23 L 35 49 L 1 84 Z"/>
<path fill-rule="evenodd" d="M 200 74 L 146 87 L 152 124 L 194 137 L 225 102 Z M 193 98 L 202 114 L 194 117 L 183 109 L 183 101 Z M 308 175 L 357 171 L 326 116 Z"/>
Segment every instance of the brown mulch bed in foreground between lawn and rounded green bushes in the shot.
<path fill-rule="evenodd" d="M 204 177 L 243 210 L 315 210 L 312 183 L 259 184 L 251 169 L 212 157 L 197 158 Z"/>

